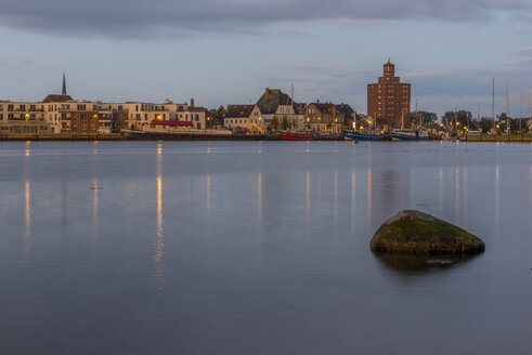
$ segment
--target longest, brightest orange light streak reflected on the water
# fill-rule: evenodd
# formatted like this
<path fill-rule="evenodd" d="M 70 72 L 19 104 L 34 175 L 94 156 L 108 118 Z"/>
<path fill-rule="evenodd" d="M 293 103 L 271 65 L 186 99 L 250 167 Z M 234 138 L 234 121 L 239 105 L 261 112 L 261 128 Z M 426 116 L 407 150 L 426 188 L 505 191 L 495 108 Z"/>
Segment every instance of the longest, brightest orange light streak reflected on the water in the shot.
<path fill-rule="evenodd" d="M 157 145 L 157 161 L 156 161 L 156 181 L 157 181 L 157 221 L 156 232 L 157 239 L 155 241 L 155 278 L 158 281 L 158 290 L 163 289 L 163 253 L 164 253 L 164 237 L 165 229 L 163 226 L 163 144 Z"/>

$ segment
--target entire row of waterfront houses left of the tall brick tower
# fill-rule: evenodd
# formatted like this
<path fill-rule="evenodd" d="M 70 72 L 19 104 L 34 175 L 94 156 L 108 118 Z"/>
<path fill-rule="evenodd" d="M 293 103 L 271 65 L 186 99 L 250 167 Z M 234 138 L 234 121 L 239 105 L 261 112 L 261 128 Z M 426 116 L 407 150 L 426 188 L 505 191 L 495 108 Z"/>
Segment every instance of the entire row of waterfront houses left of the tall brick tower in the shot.
<path fill-rule="evenodd" d="M 278 130 L 340 133 L 356 115 L 347 104 L 296 103 L 280 89 L 267 88 L 254 105 L 229 105 L 222 115 L 196 107 L 194 100 L 182 104 L 166 100 L 104 103 L 78 101 L 66 92 L 50 94 L 41 102 L 0 100 L 0 134 L 11 133 L 118 133 L 139 130 L 154 121 L 189 121 L 197 130 L 229 128 L 235 131 Z"/>

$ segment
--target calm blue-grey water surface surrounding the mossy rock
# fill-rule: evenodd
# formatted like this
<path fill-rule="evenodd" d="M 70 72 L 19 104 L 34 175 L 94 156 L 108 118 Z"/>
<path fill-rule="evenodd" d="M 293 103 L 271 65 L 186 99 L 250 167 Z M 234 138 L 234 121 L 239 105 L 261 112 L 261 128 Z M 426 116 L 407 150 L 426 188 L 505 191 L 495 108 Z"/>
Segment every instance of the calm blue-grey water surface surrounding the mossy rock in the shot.
<path fill-rule="evenodd" d="M 532 145 L 0 143 L 0 354 L 530 354 Z M 401 209 L 482 237 L 368 250 Z"/>

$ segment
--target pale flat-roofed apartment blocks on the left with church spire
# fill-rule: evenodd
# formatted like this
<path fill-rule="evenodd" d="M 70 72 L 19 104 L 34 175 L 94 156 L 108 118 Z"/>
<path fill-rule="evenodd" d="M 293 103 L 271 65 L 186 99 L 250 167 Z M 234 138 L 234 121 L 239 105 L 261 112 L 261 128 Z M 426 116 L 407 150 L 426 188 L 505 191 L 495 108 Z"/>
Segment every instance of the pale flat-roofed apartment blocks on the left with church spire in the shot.
<path fill-rule="evenodd" d="M 189 103 L 147 102 L 103 103 L 77 101 L 66 93 L 48 95 L 41 102 L 0 100 L 0 134 L 10 133 L 115 133 L 124 129 L 142 130 L 154 120 L 191 121 L 195 129 L 207 127 L 209 115 L 204 107 Z"/>

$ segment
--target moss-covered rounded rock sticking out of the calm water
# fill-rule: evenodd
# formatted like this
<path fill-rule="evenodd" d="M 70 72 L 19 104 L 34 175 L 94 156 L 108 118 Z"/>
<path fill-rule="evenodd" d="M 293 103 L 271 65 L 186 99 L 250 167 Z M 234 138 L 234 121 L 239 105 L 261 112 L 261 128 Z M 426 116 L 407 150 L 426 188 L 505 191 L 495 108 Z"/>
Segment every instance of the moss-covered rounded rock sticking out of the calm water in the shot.
<path fill-rule="evenodd" d="M 386 221 L 372 238 L 374 252 L 401 254 L 477 254 L 484 242 L 430 214 L 404 210 Z"/>

